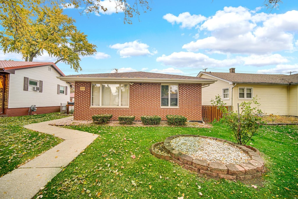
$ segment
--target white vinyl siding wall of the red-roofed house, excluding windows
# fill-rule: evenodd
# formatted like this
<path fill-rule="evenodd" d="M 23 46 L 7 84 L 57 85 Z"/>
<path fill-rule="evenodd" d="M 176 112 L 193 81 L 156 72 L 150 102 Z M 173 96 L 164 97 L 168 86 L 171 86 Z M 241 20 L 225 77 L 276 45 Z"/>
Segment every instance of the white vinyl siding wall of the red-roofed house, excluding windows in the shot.
<path fill-rule="evenodd" d="M 36 107 L 60 106 L 60 103 L 69 101 L 70 86 L 65 81 L 57 78 L 60 76 L 52 67 L 34 67 L 15 70 L 15 74 L 10 74 L 8 108 L 25 108 L 31 105 Z M 28 91 L 24 91 L 24 77 L 32 80 L 43 81 L 42 92 L 33 91 L 29 86 Z M 57 94 L 57 85 L 67 86 L 67 94 Z"/>

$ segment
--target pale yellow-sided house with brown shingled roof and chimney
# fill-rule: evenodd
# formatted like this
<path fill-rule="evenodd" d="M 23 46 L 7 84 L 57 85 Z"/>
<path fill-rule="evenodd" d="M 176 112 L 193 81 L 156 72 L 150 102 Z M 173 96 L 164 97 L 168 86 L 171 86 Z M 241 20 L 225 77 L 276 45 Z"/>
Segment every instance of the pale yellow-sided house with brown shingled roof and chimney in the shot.
<path fill-rule="evenodd" d="M 237 110 L 238 103 L 256 97 L 266 115 L 298 116 L 298 74 L 236 73 L 230 68 L 230 72 L 200 72 L 197 77 L 217 80 L 202 87 L 202 105 L 211 105 L 220 95 L 227 106 Z"/>

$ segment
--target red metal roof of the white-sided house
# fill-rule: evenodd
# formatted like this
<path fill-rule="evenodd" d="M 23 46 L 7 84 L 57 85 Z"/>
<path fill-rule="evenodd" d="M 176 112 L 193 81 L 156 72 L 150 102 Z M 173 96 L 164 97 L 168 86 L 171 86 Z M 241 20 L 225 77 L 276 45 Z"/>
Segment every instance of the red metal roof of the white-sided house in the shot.
<path fill-rule="evenodd" d="M 40 66 L 51 66 L 59 73 L 59 75 L 65 76 L 64 73 L 53 62 L 0 61 L 0 72 L 4 71 L 7 73 L 14 73 L 15 70 Z"/>

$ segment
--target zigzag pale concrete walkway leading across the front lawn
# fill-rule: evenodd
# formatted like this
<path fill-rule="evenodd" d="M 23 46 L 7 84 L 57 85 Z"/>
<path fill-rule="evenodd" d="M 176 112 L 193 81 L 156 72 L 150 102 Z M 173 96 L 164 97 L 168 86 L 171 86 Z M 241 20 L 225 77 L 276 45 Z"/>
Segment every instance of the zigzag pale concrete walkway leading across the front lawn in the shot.
<path fill-rule="evenodd" d="M 41 187 L 52 180 L 62 169 L 79 155 L 98 135 L 50 126 L 48 124 L 70 120 L 72 117 L 29 124 L 25 128 L 55 135 L 64 139 L 57 146 L 0 178 L 1 199 L 30 199 Z"/>

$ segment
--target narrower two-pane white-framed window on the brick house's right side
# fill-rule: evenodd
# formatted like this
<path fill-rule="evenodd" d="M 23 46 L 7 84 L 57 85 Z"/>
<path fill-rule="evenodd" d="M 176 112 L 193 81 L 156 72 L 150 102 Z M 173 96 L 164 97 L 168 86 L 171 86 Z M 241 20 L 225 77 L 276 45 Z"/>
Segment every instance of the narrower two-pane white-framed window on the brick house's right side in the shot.
<path fill-rule="evenodd" d="M 161 107 L 178 107 L 178 85 L 161 85 Z"/>

